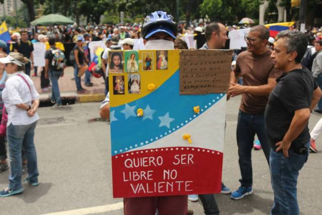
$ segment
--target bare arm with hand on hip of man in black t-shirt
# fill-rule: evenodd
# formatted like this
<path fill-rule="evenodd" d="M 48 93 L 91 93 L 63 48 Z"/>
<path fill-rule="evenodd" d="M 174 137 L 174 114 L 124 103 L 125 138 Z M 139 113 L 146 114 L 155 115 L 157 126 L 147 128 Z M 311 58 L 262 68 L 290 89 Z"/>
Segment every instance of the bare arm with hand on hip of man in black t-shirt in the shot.
<path fill-rule="evenodd" d="M 288 150 L 291 146 L 292 141 L 303 131 L 309 118 L 309 108 L 299 109 L 294 112 L 292 122 L 287 132 L 285 133 L 283 140 L 275 144 L 275 146 L 277 147 L 276 152 L 283 150 L 284 156 L 286 158 L 288 157 Z"/>

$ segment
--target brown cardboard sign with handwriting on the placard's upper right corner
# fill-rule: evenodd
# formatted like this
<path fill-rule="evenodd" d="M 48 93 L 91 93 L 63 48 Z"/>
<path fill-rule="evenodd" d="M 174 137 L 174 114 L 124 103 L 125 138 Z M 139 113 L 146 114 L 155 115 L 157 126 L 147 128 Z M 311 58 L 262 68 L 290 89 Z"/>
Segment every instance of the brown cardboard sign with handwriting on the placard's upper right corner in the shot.
<path fill-rule="evenodd" d="M 180 94 L 198 95 L 227 91 L 232 50 L 182 50 Z"/>

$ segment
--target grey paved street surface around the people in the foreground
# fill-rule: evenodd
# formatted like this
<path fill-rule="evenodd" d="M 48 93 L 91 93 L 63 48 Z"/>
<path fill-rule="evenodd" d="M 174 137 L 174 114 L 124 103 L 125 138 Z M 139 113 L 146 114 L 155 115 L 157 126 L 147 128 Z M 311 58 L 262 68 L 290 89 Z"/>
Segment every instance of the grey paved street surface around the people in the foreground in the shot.
<path fill-rule="evenodd" d="M 240 97 L 227 102 L 223 182 L 231 189 L 240 177 L 235 140 Z M 110 131 L 99 117 L 99 103 L 79 103 L 62 109 L 39 109 L 36 128 L 40 185 L 24 184 L 25 191 L 0 199 L 0 214 L 111 214 L 121 215 L 122 199 L 112 197 Z M 322 115 L 313 113 L 312 128 Z M 322 152 L 317 139 L 317 148 Z M 273 204 L 268 165 L 262 151 L 253 151 L 254 194 L 241 200 L 216 194 L 220 214 L 268 214 Z M 298 199 L 301 214 L 320 214 L 321 153 L 310 154 L 300 172 Z M 0 174 L 0 189 L 8 185 L 9 171 Z M 23 176 L 23 180 L 26 175 Z M 202 180 L 202 178 L 200 178 Z M 189 202 L 194 214 L 203 214 L 200 203 Z M 63 211 L 63 212 L 61 212 Z"/>

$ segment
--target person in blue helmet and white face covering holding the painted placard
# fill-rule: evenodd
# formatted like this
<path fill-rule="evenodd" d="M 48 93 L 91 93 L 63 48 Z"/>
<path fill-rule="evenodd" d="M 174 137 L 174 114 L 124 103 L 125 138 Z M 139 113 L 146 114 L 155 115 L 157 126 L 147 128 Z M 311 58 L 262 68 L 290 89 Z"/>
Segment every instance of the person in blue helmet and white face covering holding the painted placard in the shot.
<path fill-rule="evenodd" d="M 151 50 L 174 49 L 174 40 L 178 33 L 173 17 L 163 11 L 156 11 L 147 16 L 143 23 L 142 35 L 145 48 Z M 151 215 L 158 210 L 160 215 L 186 215 L 188 196 L 154 196 L 124 198 L 125 215 Z"/>

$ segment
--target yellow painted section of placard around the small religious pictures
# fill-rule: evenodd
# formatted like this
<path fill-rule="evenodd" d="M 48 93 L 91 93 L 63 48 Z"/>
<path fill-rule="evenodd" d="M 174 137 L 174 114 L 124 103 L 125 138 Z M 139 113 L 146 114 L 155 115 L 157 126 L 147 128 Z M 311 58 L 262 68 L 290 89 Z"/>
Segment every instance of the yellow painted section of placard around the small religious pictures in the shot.
<path fill-rule="evenodd" d="M 115 51 L 122 51 L 122 50 L 115 50 Z M 111 51 L 113 52 L 113 51 Z M 125 51 L 123 51 L 125 52 Z M 143 70 L 143 55 L 144 53 L 153 53 L 152 60 L 152 70 L 145 71 Z M 109 90 L 110 90 L 110 105 L 111 107 L 117 107 L 126 103 L 133 102 L 138 100 L 153 91 L 148 90 L 149 84 L 154 84 L 155 89 L 162 86 L 176 71 L 179 69 L 179 53 L 180 50 L 168 50 L 168 69 L 156 69 L 156 50 L 138 50 L 139 54 L 139 72 L 137 74 L 140 75 L 140 93 L 139 94 L 130 94 L 128 89 L 128 81 L 129 75 L 135 73 L 125 73 L 125 63 L 126 60 L 124 59 L 125 53 L 123 53 L 123 73 L 111 73 L 109 71 Z M 110 59 L 110 56 L 109 56 Z M 114 95 L 113 93 L 113 77 L 114 76 L 124 76 L 124 95 Z M 179 85 L 179 83 L 178 83 Z"/>

